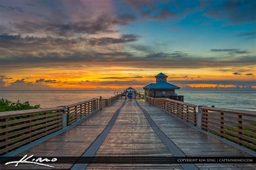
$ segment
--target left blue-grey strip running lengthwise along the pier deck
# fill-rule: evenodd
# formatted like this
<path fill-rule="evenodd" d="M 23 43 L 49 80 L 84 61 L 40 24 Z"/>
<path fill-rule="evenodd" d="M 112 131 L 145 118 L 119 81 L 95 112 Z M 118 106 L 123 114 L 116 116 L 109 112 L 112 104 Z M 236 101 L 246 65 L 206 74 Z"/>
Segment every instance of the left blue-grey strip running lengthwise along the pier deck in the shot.
<path fill-rule="evenodd" d="M 102 131 L 102 133 L 100 133 L 98 138 L 91 144 L 91 146 L 89 148 L 87 148 L 87 150 L 84 152 L 84 154 L 81 157 L 93 157 L 95 155 L 95 153 L 98 151 L 100 145 L 102 145 L 103 141 L 107 137 L 107 134 L 109 134 L 109 132 L 111 131 L 111 129 L 118 117 L 118 114 L 120 113 L 121 109 L 125 105 L 125 101 L 126 100 L 124 100 L 122 106 L 120 106 L 118 108 L 118 110 L 114 113 L 113 117 L 111 118 L 109 124 L 107 124 L 104 131 Z M 88 166 L 88 164 L 74 164 L 72 166 L 71 170 L 85 169 L 87 166 Z"/>

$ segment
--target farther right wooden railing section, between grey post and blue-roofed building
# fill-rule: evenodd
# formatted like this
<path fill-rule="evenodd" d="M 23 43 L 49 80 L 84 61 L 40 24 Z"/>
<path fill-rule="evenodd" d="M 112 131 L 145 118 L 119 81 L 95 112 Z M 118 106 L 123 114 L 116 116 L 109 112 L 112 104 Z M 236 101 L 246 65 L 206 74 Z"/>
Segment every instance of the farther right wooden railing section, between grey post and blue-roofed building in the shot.
<path fill-rule="evenodd" d="M 186 120 L 187 122 L 197 125 L 196 107 L 197 105 L 184 103 L 182 101 L 166 99 L 166 98 L 152 98 L 146 96 L 146 101 L 151 105 L 164 108 L 166 111 L 173 113 Z"/>

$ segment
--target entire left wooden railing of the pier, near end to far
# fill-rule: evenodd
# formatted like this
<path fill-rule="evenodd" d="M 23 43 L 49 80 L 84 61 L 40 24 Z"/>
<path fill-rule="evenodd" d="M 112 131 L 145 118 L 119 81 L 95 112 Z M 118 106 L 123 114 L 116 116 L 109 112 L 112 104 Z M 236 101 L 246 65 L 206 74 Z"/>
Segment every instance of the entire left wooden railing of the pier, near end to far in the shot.
<path fill-rule="evenodd" d="M 91 99 L 68 106 L 1 112 L 0 155 L 59 131 L 85 115 L 111 105 L 121 96 Z"/>

